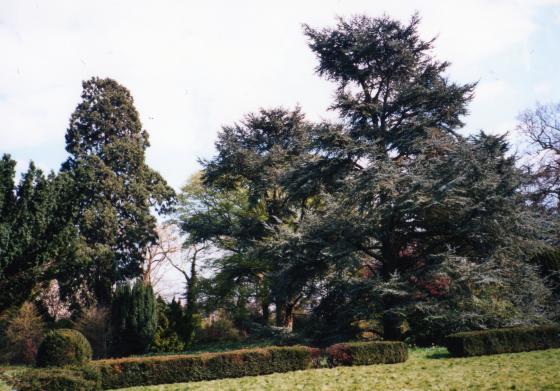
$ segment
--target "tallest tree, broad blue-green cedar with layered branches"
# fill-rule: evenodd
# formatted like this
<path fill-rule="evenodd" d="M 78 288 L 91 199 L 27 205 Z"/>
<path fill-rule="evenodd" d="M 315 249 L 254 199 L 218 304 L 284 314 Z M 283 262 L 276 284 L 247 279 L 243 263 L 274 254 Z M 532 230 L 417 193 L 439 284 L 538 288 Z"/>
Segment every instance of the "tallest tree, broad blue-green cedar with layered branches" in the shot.
<path fill-rule="evenodd" d="M 492 262 L 509 281 L 504 307 L 516 311 L 500 325 L 542 319 L 547 292 L 523 262 L 539 245 L 524 178 L 502 138 L 457 134 L 475 85 L 448 81 L 449 63 L 431 56 L 418 24 L 359 16 L 305 27 L 317 72 L 337 83 L 342 123 L 316 127 L 313 156 L 285 177 L 292 200 L 317 192 L 324 203 L 287 248 L 328 267 L 333 282 L 365 277 L 360 295 L 376 301 L 388 338 L 400 336 L 407 304 L 450 292 L 451 259 Z"/>

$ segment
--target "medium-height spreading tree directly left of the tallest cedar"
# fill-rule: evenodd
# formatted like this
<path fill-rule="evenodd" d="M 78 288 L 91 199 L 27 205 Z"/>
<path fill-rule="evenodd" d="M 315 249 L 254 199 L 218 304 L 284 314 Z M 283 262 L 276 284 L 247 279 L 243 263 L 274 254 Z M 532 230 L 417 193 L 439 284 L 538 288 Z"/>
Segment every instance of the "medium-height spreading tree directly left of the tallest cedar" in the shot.
<path fill-rule="evenodd" d="M 268 306 L 273 302 L 277 325 L 290 329 L 293 311 L 303 298 L 309 278 L 302 273 L 288 278 L 291 259 L 277 244 L 283 230 L 297 231 L 298 221 L 314 207 L 314 201 L 294 201 L 282 181 L 290 167 L 305 160 L 310 129 L 299 108 L 260 110 L 247 115 L 240 124 L 224 127 L 216 142 L 217 155 L 203 162 L 204 186 L 216 189 L 210 192 L 237 191 L 241 196 L 233 219 L 224 221 L 230 223 L 229 227 L 213 219 L 219 228 L 206 230 L 207 239 L 221 237 L 220 243 L 229 247 L 224 249 L 230 252 L 218 261 L 219 276 L 223 281 L 256 284 L 263 319 L 268 319 Z M 218 206 L 222 205 L 218 202 Z M 208 220 L 201 216 L 217 213 L 209 208 L 209 213 L 191 216 L 187 230 L 196 231 L 197 221 Z"/>

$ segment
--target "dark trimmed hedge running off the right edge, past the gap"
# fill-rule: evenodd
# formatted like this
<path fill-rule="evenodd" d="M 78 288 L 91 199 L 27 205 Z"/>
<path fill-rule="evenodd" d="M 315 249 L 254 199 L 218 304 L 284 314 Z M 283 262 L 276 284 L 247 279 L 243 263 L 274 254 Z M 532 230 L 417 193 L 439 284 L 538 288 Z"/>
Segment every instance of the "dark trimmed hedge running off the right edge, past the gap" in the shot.
<path fill-rule="evenodd" d="M 558 348 L 560 325 L 456 333 L 446 337 L 445 346 L 455 357 Z"/>

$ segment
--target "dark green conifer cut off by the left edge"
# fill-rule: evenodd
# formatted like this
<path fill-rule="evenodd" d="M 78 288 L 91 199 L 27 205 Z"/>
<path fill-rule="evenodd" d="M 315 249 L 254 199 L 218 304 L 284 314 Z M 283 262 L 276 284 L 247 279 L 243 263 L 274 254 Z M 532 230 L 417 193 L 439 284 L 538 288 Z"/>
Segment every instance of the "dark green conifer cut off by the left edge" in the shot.
<path fill-rule="evenodd" d="M 27 300 L 74 252 L 76 232 L 60 213 L 64 176 L 45 177 L 30 163 L 16 186 L 16 162 L 0 160 L 0 311 Z"/>

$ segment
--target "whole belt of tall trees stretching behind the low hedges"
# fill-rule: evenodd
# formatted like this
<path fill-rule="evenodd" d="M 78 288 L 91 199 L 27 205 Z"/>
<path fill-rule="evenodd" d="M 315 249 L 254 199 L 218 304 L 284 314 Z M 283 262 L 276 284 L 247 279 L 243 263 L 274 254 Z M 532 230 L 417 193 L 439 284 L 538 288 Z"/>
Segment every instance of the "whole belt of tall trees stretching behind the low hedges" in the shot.
<path fill-rule="evenodd" d="M 506 136 L 461 135 L 476 84 L 449 80 L 419 22 L 305 26 L 339 120 L 249 114 L 177 195 L 145 163 L 130 93 L 84 82 L 58 173 L 31 165 L 16 185 L 2 159 L 0 311 L 56 280 L 74 322 L 110 312 L 120 355 L 244 335 L 424 344 L 559 320 L 560 107 L 519 118 L 535 164 Z M 182 266 L 151 210 L 182 234 Z M 183 301 L 155 298 L 149 254 L 183 272 Z M 133 351 L 119 335 L 145 342 Z"/>

